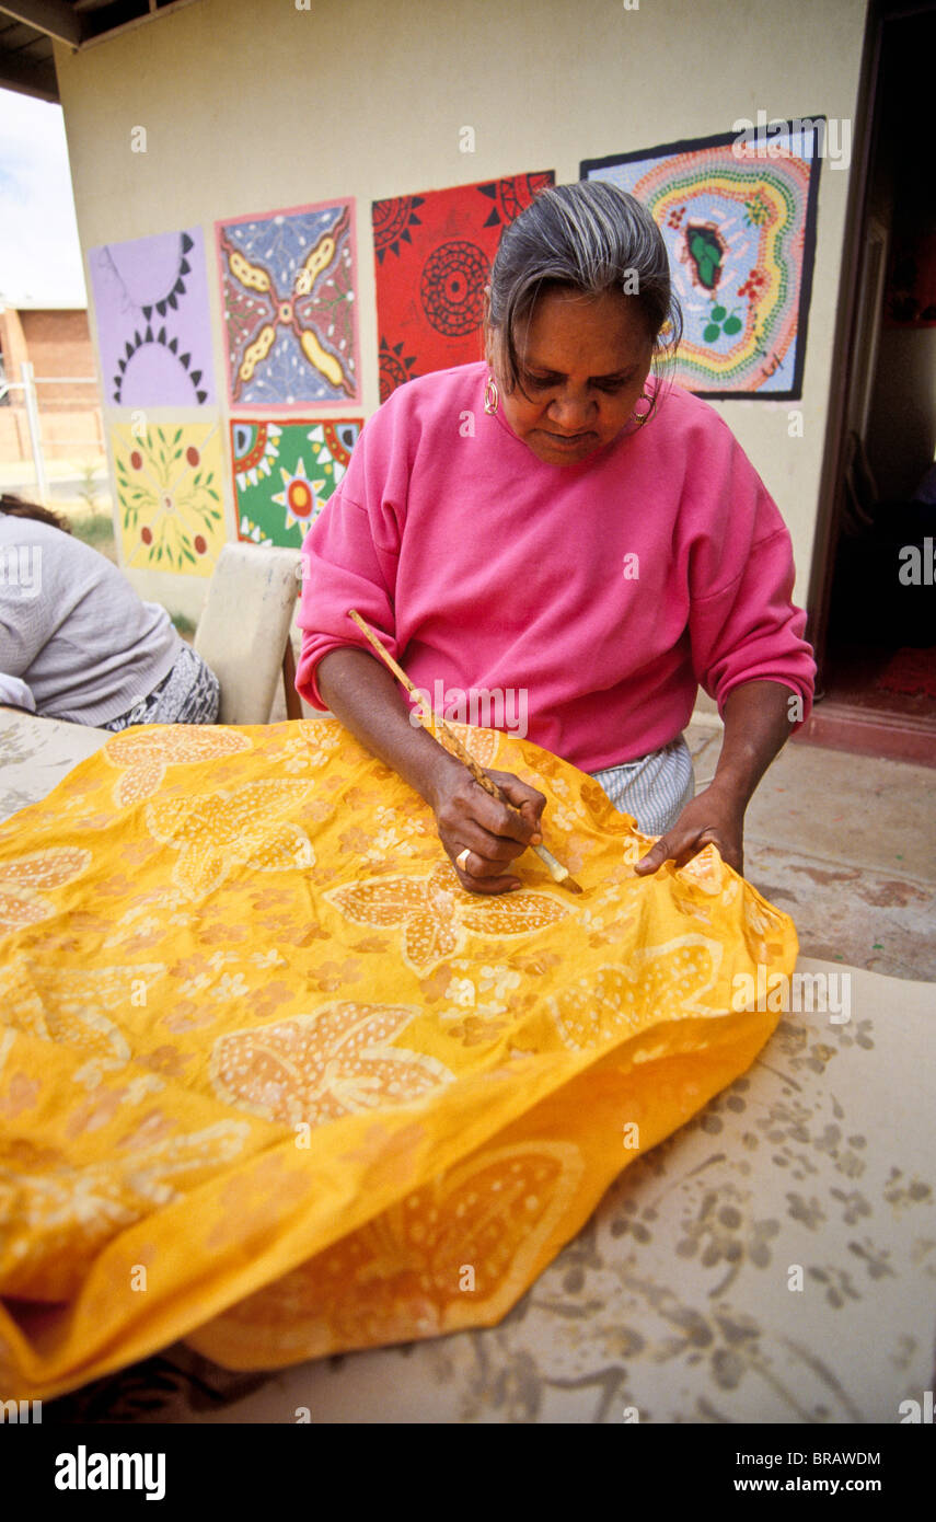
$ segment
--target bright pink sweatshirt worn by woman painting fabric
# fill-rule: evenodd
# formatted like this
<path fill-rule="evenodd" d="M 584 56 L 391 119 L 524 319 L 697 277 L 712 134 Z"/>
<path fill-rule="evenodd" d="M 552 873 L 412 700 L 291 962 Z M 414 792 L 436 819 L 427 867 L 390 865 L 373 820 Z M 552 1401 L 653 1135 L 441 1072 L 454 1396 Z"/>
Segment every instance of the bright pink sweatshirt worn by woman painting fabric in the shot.
<path fill-rule="evenodd" d="M 486 379 L 472 364 L 409 380 L 364 428 L 303 545 L 306 702 L 326 706 L 323 656 L 370 650 L 355 607 L 429 699 L 444 693 L 437 711 L 583 772 L 674 740 L 699 683 L 721 711 L 741 682 L 779 682 L 805 720 L 816 667 L 790 536 L 718 414 L 674 388 L 645 428 L 554 466 L 484 412 Z"/>

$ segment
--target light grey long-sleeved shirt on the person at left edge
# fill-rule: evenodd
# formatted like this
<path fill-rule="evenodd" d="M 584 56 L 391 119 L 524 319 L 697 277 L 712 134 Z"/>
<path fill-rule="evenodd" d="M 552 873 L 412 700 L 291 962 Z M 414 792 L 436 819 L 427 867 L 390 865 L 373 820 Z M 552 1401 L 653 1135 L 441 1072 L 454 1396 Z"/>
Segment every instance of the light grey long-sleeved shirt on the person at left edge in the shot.
<path fill-rule="evenodd" d="M 0 511 L 0 671 L 37 712 L 107 724 L 149 697 L 181 639 L 164 607 L 72 534 Z"/>

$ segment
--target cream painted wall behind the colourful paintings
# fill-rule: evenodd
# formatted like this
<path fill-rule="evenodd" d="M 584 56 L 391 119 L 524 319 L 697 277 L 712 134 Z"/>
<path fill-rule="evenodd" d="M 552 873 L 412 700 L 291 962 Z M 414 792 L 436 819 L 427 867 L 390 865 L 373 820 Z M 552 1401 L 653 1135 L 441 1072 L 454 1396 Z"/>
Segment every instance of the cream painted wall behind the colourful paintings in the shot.
<path fill-rule="evenodd" d="M 727 132 L 854 119 L 864 0 L 196 0 L 56 67 L 87 251 L 216 218 L 356 198 L 364 412 L 377 405 L 370 202 Z M 635 0 L 629 0 L 630 5 Z M 146 154 L 131 152 L 145 126 Z M 476 151 L 460 152 L 473 126 Z M 810 572 L 849 170 L 822 166 L 804 397 L 723 402 Z M 216 377 L 224 376 L 213 275 Z M 799 406 L 804 435 L 790 437 Z M 339 408 L 332 411 L 353 411 Z M 128 419 L 113 412 L 110 422 Z M 151 412 L 161 417 L 190 414 Z M 227 431 L 227 412 L 222 411 Z M 227 511 L 233 534 L 231 484 Z M 205 583 L 132 572 L 196 616 Z"/>

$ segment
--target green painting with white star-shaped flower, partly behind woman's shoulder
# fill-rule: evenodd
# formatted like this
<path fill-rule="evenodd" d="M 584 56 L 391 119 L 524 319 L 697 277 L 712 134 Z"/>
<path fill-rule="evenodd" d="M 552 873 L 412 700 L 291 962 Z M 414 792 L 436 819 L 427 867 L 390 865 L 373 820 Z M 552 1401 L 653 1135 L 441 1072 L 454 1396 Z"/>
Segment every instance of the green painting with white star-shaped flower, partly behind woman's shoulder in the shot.
<path fill-rule="evenodd" d="M 298 549 L 347 470 L 361 419 L 231 422 L 237 537 Z"/>

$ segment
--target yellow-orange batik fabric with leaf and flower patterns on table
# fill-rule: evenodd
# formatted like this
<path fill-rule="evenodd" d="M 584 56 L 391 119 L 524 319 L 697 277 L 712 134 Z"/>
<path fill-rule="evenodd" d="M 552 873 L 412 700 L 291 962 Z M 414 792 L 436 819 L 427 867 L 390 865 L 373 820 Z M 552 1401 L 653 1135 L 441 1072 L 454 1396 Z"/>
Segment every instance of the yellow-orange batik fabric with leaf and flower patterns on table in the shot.
<path fill-rule="evenodd" d="M 533 852 L 464 892 L 335 720 L 125 731 L 0 826 L 6 1396 L 490 1326 L 750 1065 L 788 916 L 712 846 L 638 877 L 597 782 L 460 734 L 581 896 Z"/>

